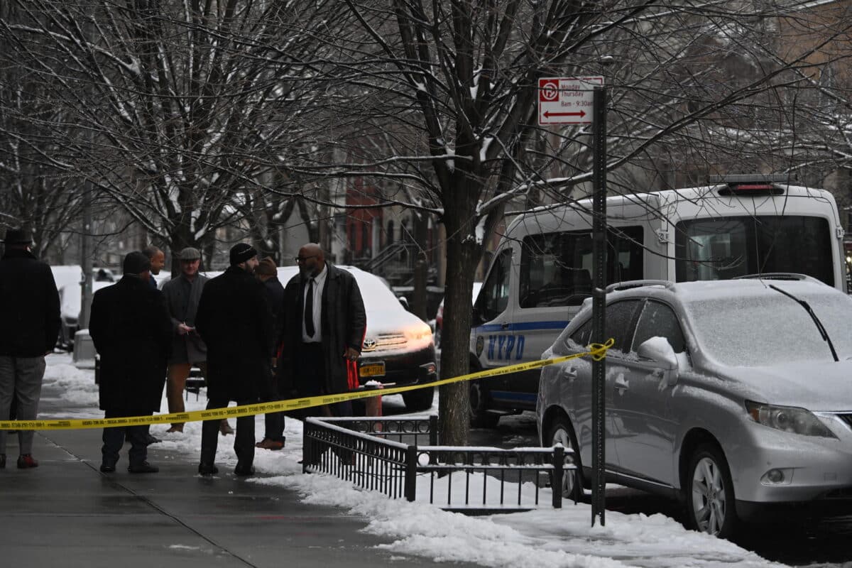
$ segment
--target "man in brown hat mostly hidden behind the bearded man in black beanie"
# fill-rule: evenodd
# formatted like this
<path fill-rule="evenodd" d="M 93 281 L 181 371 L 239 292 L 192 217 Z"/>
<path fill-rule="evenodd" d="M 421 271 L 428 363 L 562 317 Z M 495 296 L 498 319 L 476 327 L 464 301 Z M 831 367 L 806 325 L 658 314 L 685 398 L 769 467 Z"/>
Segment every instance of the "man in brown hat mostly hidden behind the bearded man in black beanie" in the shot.
<path fill-rule="evenodd" d="M 275 261 L 271 256 L 267 256 L 257 263 L 255 268 L 257 279 L 263 283 L 263 288 L 267 293 L 267 301 L 269 309 L 272 311 L 273 321 L 273 362 L 270 365 L 270 372 L 273 373 L 275 381 L 273 381 L 273 399 L 280 400 L 289 394 L 285 390 L 285 385 L 278 380 L 280 375 L 274 373 L 276 359 L 279 356 L 281 330 L 284 327 L 284 286 L 278 279 L 278 267 L 275 266 Z M 280 450 L 284 447 L 284 412 L 269 412 L 265 419 L 266 431 L 263 434 L 263 439 L 256 444 L 256 447 L 263 450 Z"/>

